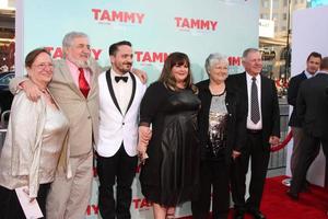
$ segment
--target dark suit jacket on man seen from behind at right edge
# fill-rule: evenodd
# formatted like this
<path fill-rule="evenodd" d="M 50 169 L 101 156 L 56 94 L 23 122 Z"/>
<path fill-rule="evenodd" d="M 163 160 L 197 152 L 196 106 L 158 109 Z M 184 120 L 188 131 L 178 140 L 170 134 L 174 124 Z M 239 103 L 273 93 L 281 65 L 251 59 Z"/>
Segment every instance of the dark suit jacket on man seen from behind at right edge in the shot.
<path fill-rule="evenodd" d="M 301 84 L 296 102 L 304 131 L 324 139 L 328 139 L 327 85 L 328 73 L 318 72 Z"/>

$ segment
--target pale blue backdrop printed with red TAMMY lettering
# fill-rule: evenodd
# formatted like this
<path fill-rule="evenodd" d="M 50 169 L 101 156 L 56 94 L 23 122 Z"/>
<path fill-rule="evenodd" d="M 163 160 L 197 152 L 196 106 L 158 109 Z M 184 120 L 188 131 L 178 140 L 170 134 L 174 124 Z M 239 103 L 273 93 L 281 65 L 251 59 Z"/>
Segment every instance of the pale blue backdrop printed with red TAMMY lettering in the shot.
<path fill-rule="evenodd" d="M 36 47 L 49 48 L 61 58 L 61 39 L 71 31 L 89 34 L 93 57 L 109 65 L 108 46 L 130 41 L 136 68 L 145 70 L 149 82 L 159 78 L 165 57 L 186 53 L 191 60 L 195 82 L 207 78 L 203 64 L 210 53 L 229 57 L 230 73 L 243 70 L 241 56 L 247 47 L 258 47 L 258 0 L 17 0 L 16 74 L 24 74 L 25 55 Z M 97 186 L 86 218 L 97 218 Z M 132 185 L 133 218 L 152 218 L 151 204 L 140 192 L 138 173 Z M 190 204 L 177 216 L 190 215 Z"/>

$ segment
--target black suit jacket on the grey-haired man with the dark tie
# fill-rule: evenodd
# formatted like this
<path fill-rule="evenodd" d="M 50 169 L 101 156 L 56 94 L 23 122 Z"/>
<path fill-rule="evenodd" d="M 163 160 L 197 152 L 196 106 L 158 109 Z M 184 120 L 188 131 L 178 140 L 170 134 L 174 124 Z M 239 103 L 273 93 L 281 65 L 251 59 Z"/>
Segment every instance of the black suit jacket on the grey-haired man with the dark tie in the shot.
<path fill-rule="evenodd" d="M 248 112 L 246 72 L 229 76 L 229 85 L 237 89 L 241 94 L 242 107 Z M 247 113 L 246 113 L 247 116 Z M 270 148 L 270 136 L 280 137 L 280 113 L 274 81 L 261 76 L 261 116 L 263 146 Z M 245 125 L 245 128 L 246 125 Z"/>

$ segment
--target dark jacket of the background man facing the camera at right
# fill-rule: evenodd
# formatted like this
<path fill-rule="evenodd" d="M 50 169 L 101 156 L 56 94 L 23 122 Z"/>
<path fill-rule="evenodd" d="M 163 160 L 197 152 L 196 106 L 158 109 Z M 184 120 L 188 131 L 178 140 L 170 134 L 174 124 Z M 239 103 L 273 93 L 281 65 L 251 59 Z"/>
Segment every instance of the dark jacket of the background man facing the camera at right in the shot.
<path fill-rule="evenodd" d="M 297 106 L 296 106 L 296 100 L 297 100 L 297 93 L 301 83 L 306 80 L 306 74 L 303 71 L 302 73 L 298 73 L 297 76 L 294 76 L 290 80 L 289 84 L 289 91 L 288 91 L 288 103 L 293 106 L 293 112 L 290 118 L 289 126 L 292 127 L 301 127 L 302 126 L 302 120 L 297 116 Z"/>

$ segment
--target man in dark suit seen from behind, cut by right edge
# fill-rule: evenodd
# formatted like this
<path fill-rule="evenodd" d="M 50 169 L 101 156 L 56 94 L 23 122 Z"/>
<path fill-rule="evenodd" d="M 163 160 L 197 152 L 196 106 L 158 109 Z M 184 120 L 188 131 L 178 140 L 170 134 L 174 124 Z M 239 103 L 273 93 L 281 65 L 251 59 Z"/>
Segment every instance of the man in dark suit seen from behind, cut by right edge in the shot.
<path fill-rule="evenodd" d="M 302 182 L 306 177 L 309 165 L 317 157 L 320 143 L 326 163 L 328 162 L 328 57 L 323 58 L 317 76 L 301 84 L 296 104 L 304 136 L 300 145 L 300 162 L 295 168 L 291 189 L 288 192 L 293 199 L 298 198 Z"/>

